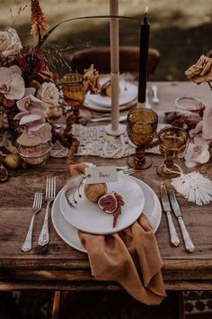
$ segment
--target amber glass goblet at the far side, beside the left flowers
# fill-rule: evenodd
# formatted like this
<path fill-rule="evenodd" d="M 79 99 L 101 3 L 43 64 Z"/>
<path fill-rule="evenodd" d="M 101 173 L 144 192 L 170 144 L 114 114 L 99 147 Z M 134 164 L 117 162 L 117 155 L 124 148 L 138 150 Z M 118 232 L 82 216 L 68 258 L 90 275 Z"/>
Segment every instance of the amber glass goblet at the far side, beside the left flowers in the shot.
<path fill-rule="evenodd" d="M 79 123 L 79 109 L 85 97 L 83 76 L 78 73 L 66 74 L 62 87 L 66 103 L 71 106 L 74 122 Z"/>

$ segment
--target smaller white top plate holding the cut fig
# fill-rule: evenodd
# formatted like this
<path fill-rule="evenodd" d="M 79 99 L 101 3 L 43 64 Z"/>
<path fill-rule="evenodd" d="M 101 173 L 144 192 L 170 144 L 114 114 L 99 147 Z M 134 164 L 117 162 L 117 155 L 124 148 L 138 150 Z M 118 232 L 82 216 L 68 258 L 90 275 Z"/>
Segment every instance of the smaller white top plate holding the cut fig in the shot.
<path fill-rule="evenodd" d="M 118 181 L 107 184 L 108 193 L 116 192 L 123 197 L 125 205 L 122 206 L 116 227 L 112 227 L 113 214 L 107 214 L 100 209 L 96 203 L 92 203 L 84 196 L 84 185 L 80 188 L 82 197 L 77 196 L 76 208 L 71 208 L 66 200 L 66 191 L 63 189 L 60 196 L 60 210 L 67 223 L 71 223 L 75 228 L 96 234 L 119 232 L 134 223 L 145 205 L 145 196 L 137 182 L 124 174 L 118 174 Z M 73 201 L 72 196 L 69 197 Z"/>

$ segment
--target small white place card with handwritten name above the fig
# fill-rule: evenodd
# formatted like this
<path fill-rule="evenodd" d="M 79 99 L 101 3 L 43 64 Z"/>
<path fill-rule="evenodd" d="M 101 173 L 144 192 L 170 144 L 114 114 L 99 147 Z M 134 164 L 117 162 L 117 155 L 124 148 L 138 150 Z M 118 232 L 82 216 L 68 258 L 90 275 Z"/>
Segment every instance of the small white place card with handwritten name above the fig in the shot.
<path fill-rule="evenodd" d="M 86 184 L 110 183 L 117 180 L 116 166 L 98 166 L 85 169 Z"/>

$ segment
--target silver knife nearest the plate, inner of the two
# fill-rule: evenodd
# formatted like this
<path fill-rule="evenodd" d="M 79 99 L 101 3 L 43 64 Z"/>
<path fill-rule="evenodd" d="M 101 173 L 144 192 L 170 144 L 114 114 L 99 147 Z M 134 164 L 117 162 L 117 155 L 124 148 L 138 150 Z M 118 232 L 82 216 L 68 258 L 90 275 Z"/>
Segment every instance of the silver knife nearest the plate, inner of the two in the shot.
<path fill-rule="evenodd" d="M 174 223 L 172 220 L 171 206 L 169 203 L 169 197 L 167 195 L 165 183 L 161 184 L 160 192 L 161 192 L 161 201 L 162 201 L 162 205 L 163 205 L 163 210 L 166 213 L 167 220 L 168 220 L 171 243 L 173 246 L 177 247 L 180 243 L 180 240 L 179 240 L 178 234 L 176 232 L 176 229 L 174 227 Z"/>

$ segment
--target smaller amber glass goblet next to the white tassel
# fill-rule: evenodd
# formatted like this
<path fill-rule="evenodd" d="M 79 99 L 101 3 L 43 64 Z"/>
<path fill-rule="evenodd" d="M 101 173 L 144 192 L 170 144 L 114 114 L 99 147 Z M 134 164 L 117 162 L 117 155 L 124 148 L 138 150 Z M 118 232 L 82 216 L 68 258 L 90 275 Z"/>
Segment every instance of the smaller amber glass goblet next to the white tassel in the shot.
<path fill-rule="evenodd" d="M 186 148 L 188 133 L 180 127 L 165 127 L 158 133 L 159 148 L 164 164 L 157 168 L 157 173 L 163 178 L 176 178 L 180 176 L 179 167 L 174 164 L 176 159 Z"/>

